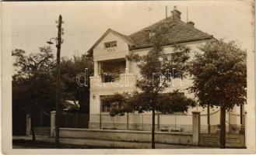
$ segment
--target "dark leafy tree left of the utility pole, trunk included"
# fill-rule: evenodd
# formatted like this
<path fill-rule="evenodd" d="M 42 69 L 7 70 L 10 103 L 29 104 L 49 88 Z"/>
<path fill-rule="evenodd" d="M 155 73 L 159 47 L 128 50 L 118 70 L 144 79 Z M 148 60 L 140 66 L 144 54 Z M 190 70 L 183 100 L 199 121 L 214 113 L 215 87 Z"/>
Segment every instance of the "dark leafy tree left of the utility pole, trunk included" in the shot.
<path fill-rule="evenodd" d="M 41 47 L 39 53 L 26 56 L 24 50 L 12 50 L 16 58 L 12 76 L 12 108 L 30 114 L 33 142 L 35 115 L 42 110 L 50 111 L 54 105 L 54 57 L 50 47 Z"/>

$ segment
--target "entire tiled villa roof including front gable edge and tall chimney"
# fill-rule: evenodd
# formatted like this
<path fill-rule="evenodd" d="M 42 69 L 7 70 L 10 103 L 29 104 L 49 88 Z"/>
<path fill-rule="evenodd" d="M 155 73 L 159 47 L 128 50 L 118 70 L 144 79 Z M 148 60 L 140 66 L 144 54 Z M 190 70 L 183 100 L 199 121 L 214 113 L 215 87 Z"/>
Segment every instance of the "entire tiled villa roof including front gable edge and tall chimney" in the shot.
<path fill-rule="evenodd" d="M 175 12 L 178 13 L 175 14 Z M 163 24 L 166 24 L 169 27 L 168 33 L 165 34 L 165 37 L 168 40 L 166 45 L 213 39 L 212 35 L 209 35 L 208 33 L 204 33 L 201 30 L 196 29 L 194 24 L 193 26 L 191 26 L 191 24 L 181 21 L 181 12 L 174 9 L 172 13 L 173 15 L 170 15 L 170 17 L 168 17 L 167 19 L 162 19 L 151 26 L 147 26 L 146 28 L 141 29 L 136 33 L 132 33 L 129 36 L 117 33 L 113 29 L 107 29 L 106 33 L 104 33 L 103 36 L 101 36 L 100 39 L 96 41 L 96 43 L 94 43 L 93 47 L 91 47 L 88 50 L 87 56 L 93 55 L 94 47 L 96 47 L 96 45 L 100 43 L 101 40 L 103 40 L 103 37 L 107 36 L 107 33 L 110 32 L 124 39 L 124 41 L 126 41 L 129 45 L 129 50 L 152 47 L 152 43 L 150 43 L 149 40 L 149 33 L 151 30 L 156 29 L 157 27 L 162 26 Z"/>

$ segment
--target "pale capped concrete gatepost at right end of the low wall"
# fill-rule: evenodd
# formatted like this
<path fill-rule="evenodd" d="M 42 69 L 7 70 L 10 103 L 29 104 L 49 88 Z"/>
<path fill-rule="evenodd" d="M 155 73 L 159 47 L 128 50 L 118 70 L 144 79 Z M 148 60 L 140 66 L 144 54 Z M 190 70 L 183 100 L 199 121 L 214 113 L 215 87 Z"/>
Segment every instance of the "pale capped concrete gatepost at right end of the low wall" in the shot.
<path fill-rule="evenodd" d="M 199 145 L 200 136 L 200 112 L 192 112 L 193 145 Z"/>

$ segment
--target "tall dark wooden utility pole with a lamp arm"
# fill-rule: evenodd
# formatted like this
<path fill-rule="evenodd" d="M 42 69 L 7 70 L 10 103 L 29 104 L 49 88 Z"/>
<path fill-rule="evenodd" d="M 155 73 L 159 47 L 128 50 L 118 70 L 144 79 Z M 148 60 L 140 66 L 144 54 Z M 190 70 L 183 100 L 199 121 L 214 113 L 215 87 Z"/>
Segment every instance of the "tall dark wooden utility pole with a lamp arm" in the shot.
<path fill-rule="evenodd" d="M 61 24 L 62 16 L 58 17 L 58 38 L 57 38 L 57 87 L 56 87 L 56 121 L 55 121 L 55 146 L 59 146 L 59 128 L 60 128 L 60 98 L 61 98 L 61 71 L 60 71 L 60 57 L 61 57 Z"/>

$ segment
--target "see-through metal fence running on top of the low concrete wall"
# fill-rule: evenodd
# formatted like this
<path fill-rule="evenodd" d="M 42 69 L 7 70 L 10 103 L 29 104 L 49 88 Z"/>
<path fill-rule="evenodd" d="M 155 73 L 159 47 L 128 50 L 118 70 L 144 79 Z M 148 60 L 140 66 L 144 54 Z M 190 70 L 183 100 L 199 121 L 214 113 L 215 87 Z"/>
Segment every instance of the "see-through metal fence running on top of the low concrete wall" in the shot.
<path fill-rule="evenodd" d="M 240 115 L 226 112 L 226 130 L 233 133 L 240 130 Z M 160 114 L 156 113 L 156 131 L 160 132 L 192 132 L 192 115 L 184 113 Z M 230 121 L 237 120 L 237 121 Z M 210 126 L 207 122 L 207 114 L 201 115 L 200 133 L 219 132 L 219 110 L 210 112 Z M 152 114 L 150 113 L 129 113 L 125 115 L 110 116 L 109 113 L 101 114 L 72 114 L 61 115 L 62 128 L 82 128 L 82 129 L 118 129 L 118 130 L 141 130 L 150 131 L 152 129 Z"/>

